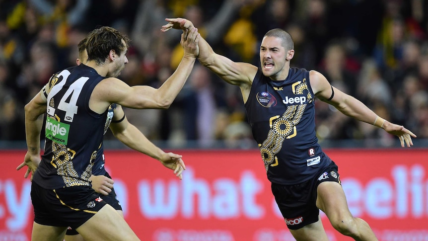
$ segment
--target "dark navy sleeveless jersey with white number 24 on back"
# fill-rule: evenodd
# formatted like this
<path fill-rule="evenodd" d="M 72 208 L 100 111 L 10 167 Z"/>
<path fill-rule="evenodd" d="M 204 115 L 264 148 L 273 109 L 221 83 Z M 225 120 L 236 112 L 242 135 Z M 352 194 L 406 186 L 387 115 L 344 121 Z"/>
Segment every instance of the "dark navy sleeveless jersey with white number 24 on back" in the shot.
<path fill-rule="evenodd" d="M 33 181 L 47 189 L 90 185 L 108 110 L 89 109 L 94 87 L 105 77 L 85 65 L 55 74 L 47 97 L 45 151 Z"/>

